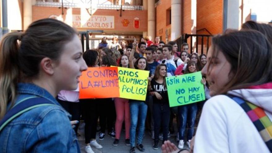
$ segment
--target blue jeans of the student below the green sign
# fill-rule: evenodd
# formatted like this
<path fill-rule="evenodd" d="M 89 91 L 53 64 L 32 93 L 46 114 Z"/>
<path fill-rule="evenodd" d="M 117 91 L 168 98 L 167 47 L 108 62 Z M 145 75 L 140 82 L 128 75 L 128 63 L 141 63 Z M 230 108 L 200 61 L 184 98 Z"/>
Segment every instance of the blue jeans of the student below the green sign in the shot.
<path fill-rule="evenodd" d="M 193 138 L 194 123 L 197 111 L 198 107 L 196 103 L 178 107 L 178 116 L 180 119 L 180 126 L 178 131 L 180 140 L 184 140 L 185 126 L 187 121 L 188 121 L 187 141 Z"/>

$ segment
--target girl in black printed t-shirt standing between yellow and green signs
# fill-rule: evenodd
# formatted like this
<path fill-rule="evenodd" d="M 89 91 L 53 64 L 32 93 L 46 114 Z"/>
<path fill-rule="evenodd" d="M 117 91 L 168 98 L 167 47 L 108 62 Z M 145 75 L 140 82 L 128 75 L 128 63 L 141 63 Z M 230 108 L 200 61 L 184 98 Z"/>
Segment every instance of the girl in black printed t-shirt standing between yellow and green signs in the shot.
<path fill-rule="evenodd" d="M 153 96 L 153 118 L 155 140 L 153 149 L 159 149 L 159 129 L 162 123 L 163 127 L 163 142 L 168 138 L 168 125 L 170 120 L 170 106 L 166 89 L 167 66 L 160 64 L 156 67 L 154 78 L 151 80 L 151 85 L 148 90 L 151 90 Z"/>

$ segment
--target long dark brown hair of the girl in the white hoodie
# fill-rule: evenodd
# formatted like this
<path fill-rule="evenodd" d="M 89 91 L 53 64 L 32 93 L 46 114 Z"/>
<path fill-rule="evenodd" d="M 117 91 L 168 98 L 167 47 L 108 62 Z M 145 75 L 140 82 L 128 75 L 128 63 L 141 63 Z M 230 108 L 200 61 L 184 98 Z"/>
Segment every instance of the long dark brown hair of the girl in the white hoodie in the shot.
<path fill-rule="evenodd" d="M 272 81 L 272 47 L 261 32 L 244 30 L 217 35 L 212 38 L 212 46 L 212 58 L 221 51 L 231 64 L 230 81 L 216 94 Z M 210 63 L 207 70 L 209 74 Z"/>

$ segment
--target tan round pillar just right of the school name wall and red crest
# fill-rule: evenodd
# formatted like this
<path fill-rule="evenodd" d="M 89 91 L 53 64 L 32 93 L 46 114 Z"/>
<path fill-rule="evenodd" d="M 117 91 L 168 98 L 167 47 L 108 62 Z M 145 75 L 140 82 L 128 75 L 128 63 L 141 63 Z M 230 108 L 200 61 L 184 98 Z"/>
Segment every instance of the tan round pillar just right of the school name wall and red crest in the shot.
<path fill-rule="evenodd" d="M 147 2 L 147 35 L 152 37 L 152 41 L 155 40 L 155 0 L 148 0 Z"/>

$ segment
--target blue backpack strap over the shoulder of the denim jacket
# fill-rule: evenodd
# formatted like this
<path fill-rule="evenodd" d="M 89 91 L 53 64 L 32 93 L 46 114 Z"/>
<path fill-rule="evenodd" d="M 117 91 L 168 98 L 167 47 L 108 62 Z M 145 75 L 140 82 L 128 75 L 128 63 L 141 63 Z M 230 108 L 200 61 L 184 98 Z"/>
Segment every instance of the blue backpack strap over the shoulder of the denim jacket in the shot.
<path fill-rule="evenodd" d="M 6 115 L 0 121 L 0 132 L 1 130 L 14 118 L 20 116 L 21 114 L 40 106 L 45 105 L 56 105 L 52 101 L 42 98 L 42 97 L 34 97 L 20 102 L 11 108 Z"/>

